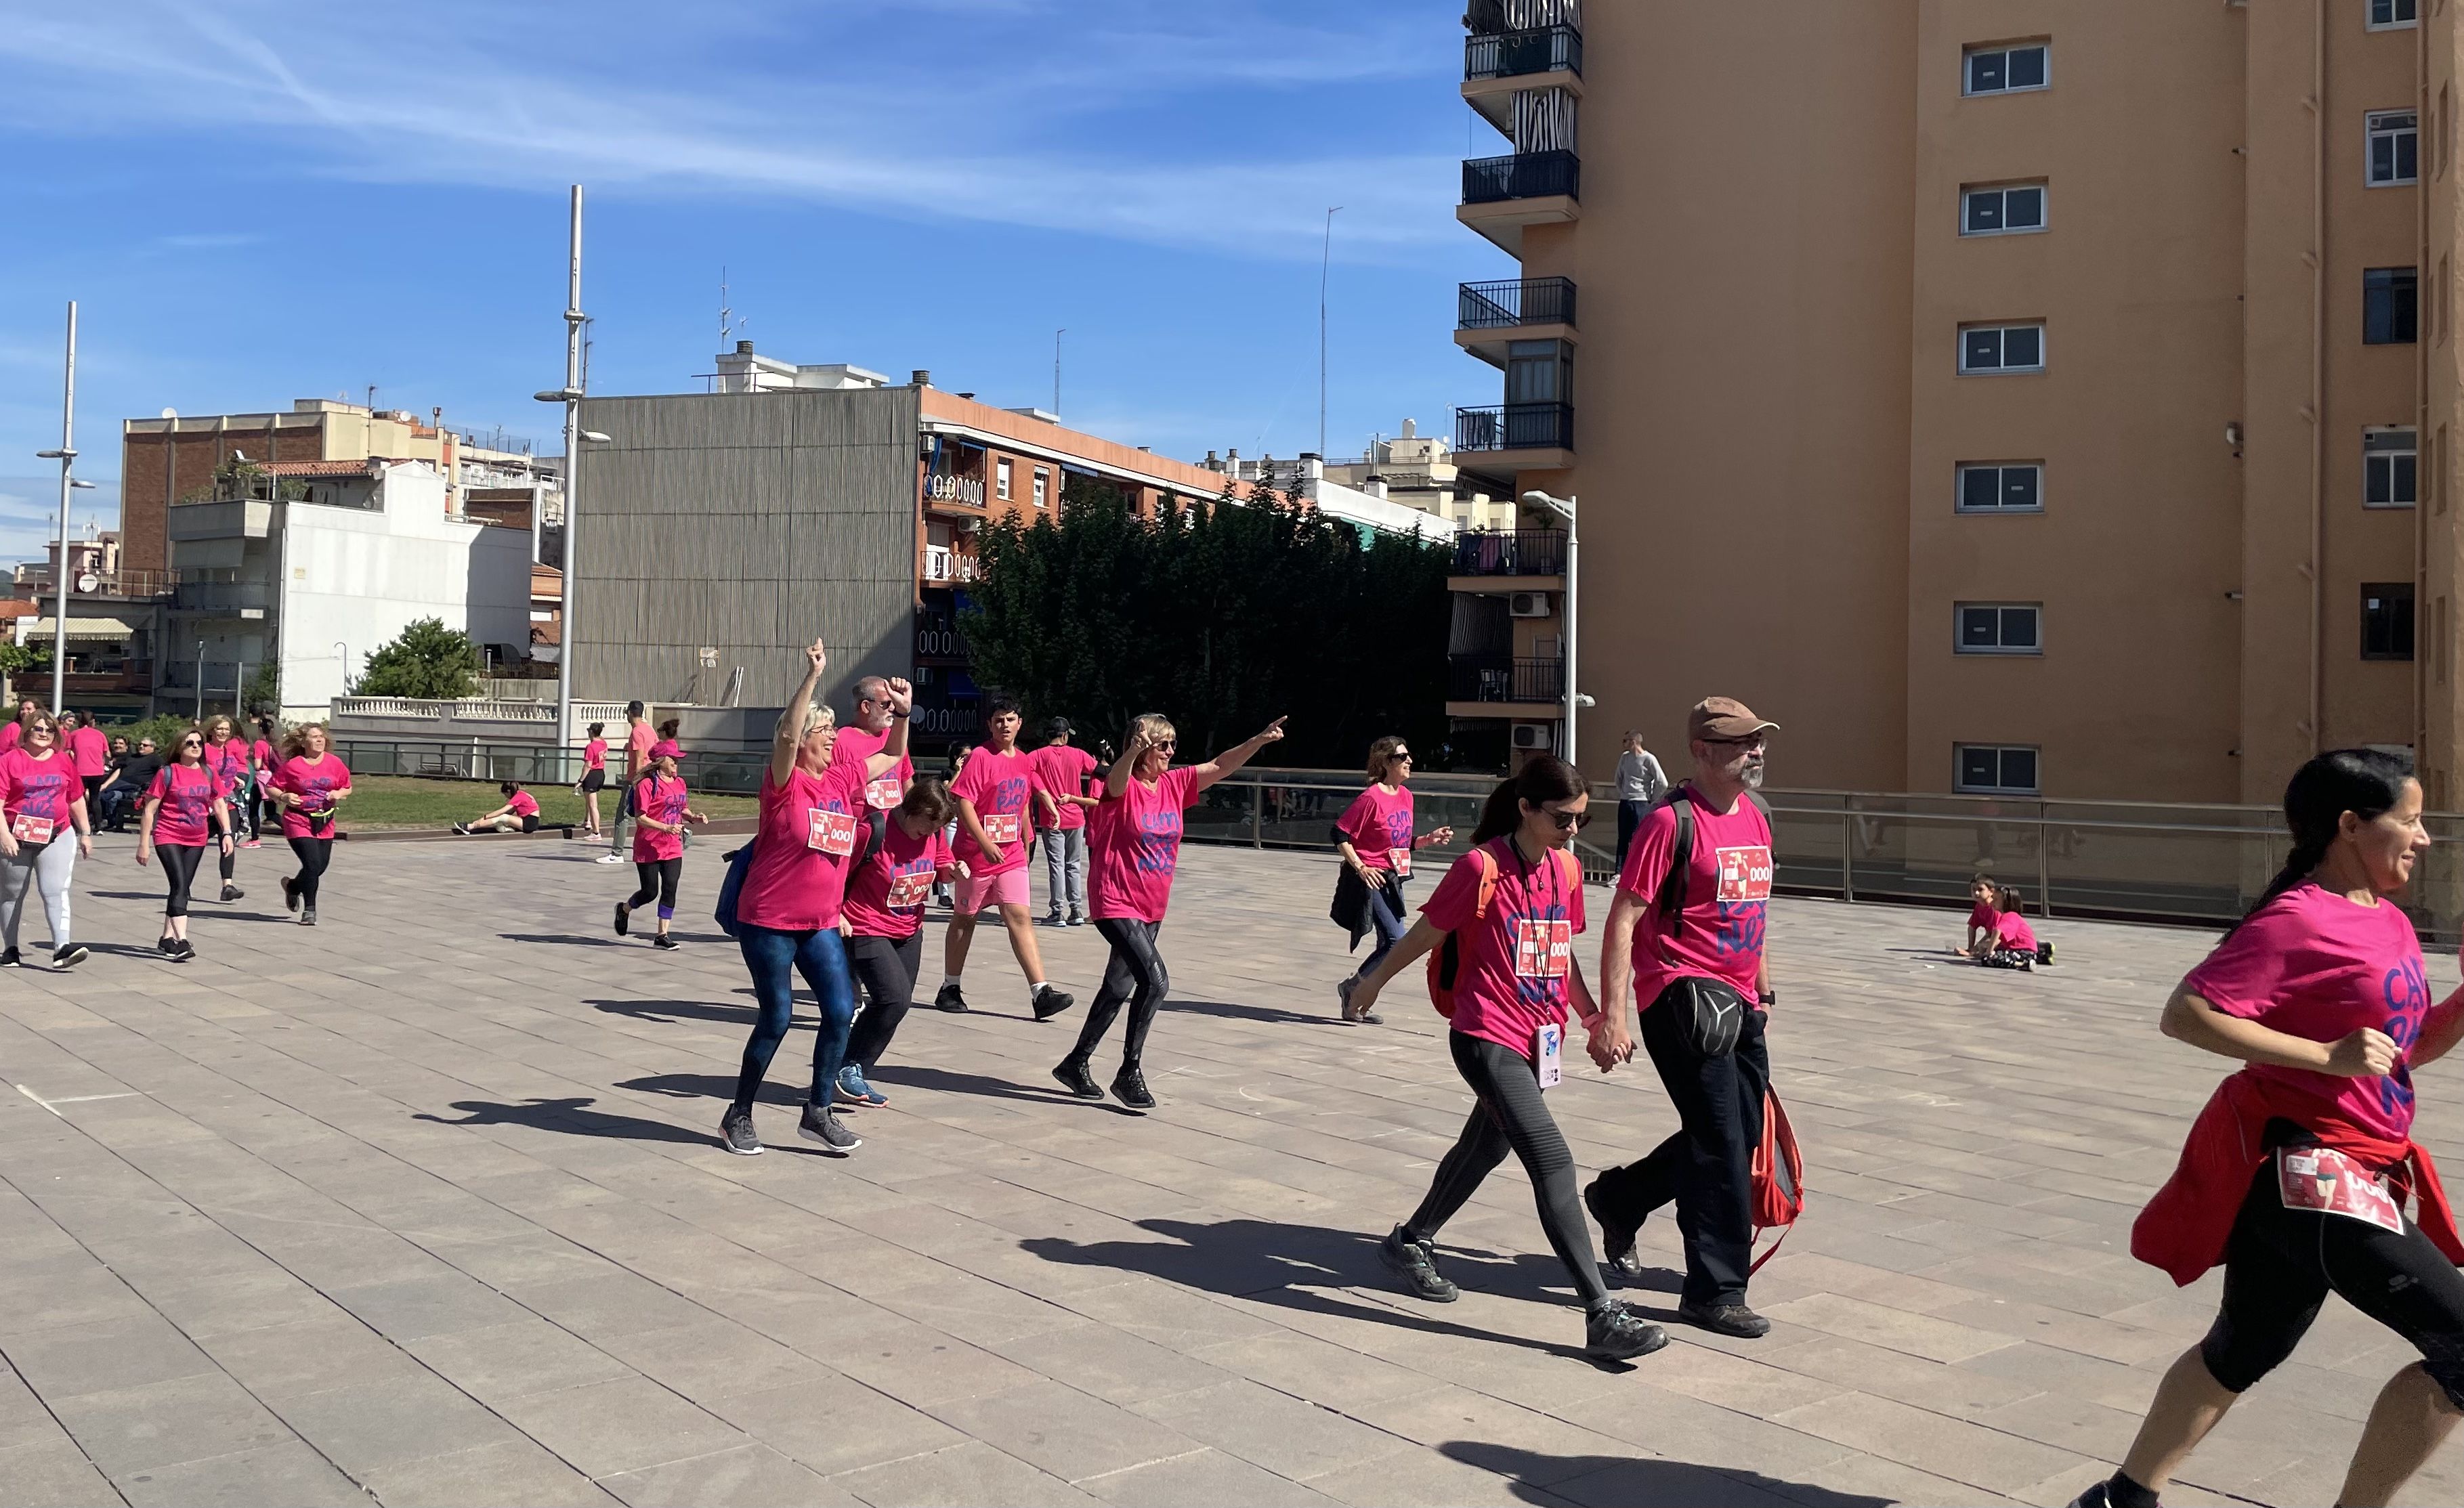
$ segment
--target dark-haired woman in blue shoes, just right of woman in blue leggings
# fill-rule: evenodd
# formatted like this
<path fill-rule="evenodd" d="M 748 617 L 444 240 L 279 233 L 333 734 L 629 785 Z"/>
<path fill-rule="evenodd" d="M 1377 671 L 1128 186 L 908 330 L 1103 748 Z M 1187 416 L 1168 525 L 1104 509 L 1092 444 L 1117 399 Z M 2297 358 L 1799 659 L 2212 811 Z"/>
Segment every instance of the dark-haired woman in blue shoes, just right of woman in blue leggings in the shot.
<path fill-rule="evenodd" d="M 865 1010 L 848 1032 L 848 1060 L 838 1069 L 843 1104 L 890 1104 L 872 1087 L 890 1037 L 914 1005 L 917 971 L 924 966 L 924 902 L 934 880 L 958 872 L 941 838 L 941 823 L 958 811 L 949 786 L 922 776 L 890 808 L 882 840 L 848 880 L 848 966 L 865 986 Z"/>

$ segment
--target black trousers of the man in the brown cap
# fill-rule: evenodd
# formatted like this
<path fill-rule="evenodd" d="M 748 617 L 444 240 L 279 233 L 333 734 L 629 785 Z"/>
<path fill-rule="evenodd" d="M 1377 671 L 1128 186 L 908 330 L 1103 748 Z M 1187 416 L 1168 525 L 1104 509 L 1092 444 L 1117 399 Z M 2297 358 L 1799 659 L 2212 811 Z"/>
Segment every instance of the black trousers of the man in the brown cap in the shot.
<path fill-rule="evenodd" d="M 1767 1013 L 1747 1010 L 1737 1050 L 1705 1057 L 1666 993 L 1643 1010 L 1643 1050 L 1661 1069 L 1680 1126 L 1643 1161 L 1602 1173 L 1599 1200 L 1604 1220 L 1624 1227 L 1676 1202 L 1688 1303 L 1745 1303 L 1754 1259 L 1754 1148 L 1762 1143 L 1762 1094 L 1772 1084 L 1764 1023 Z"/>

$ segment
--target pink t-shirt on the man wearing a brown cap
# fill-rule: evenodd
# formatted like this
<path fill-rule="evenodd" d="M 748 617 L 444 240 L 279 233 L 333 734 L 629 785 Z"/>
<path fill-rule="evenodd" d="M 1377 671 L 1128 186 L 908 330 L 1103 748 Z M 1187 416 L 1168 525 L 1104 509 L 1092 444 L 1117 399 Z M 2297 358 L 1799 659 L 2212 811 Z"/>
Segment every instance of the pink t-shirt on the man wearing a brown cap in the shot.
<path fill-rule="evenodd" d="M 1676 801 L 1693 803 L 1690 875 L 1685 877 L 1685 929 L 1666 934 L 1658 912 L 1661 880 L 1676 853 L 1678 818 L 1671 806 L 1653 806 L 1634 830 L 1626 867 L 1616 887 L 1643 899 L 1634 924 L 1634 1003 L 1651 1010 L 1671 981 L 1720 978 L 1747 1000 L 1757 995 L 1762 973 L 1762 922 L 1772 899 L 1772 823 L 1762 808 L 1737 796 L 1737 808 L 1717 813 L 1695 788 L 1680 786 Z"/>

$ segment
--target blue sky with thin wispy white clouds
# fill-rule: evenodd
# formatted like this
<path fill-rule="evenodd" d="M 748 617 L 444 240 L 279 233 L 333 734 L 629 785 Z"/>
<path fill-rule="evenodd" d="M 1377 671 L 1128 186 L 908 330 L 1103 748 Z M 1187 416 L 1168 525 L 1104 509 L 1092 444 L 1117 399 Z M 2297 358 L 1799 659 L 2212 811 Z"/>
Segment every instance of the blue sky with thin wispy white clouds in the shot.
<path fill-rule="evenodd" d="M 118 421 L 296 397 L 549 436 L 564 185 L 594 392 L 697 392 L 739 335 L 1173 456 L 1328 448 L 1496 402 L 1454 222 L 1503 150 L 1459 0 L 108 0 L 0 27 L 0 559 L 39 554 L 81 306 L 76 517 Z"/>

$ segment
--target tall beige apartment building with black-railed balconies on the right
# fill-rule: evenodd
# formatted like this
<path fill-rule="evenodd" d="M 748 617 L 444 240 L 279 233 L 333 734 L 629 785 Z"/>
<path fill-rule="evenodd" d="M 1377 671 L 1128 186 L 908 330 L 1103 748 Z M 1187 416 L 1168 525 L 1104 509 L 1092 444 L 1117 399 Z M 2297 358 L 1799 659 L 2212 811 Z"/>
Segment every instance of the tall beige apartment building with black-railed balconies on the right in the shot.
<path fill-rule="evenodd" d="M 1520 261 L 1454 463 L 1579 508 L 1574 754 L 1737 695 L 1789 786 L 2457 786 L 2449 0 L 1473 0 Z M 1469 537 L 1464 727 L 1555 747 L 1565 540 Z"/>

